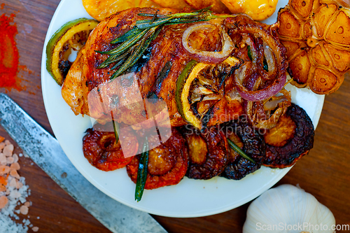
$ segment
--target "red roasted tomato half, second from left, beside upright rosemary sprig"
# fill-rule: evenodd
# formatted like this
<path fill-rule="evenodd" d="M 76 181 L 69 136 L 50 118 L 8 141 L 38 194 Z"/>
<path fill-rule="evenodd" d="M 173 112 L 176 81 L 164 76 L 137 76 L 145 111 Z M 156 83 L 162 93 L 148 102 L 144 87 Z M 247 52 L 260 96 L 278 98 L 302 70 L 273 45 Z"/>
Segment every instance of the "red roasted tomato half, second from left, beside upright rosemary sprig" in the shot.
<path fill-rule="evenodd" d="M 158 136 L 148 137 L 148 145 L 152 148 L 159 141 Z M 157 134 L 155 134 L 157 135 Z M 178 184 L 185 176 L 188 168 L 188 147 L 183 136 L 176 128 L 172 128 L 172 136 L 160 146 L 148 153 L 148 174 L 146 190 Z M 127 165 L 127 174 L 134 183 L 137 182 L 139 155 L 134 156 Z"/>

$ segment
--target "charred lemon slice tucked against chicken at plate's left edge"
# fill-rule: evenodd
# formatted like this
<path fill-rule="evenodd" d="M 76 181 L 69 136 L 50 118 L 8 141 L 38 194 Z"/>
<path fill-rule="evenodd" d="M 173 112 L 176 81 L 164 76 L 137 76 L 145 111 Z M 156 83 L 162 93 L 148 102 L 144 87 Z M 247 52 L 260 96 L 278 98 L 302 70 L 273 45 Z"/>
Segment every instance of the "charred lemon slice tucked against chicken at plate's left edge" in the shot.
<path fill-rule="evenodd" d="M 80 50 L 90 32 L 97 26 L 96 20 L 80 18 L 64 24 L 48 41 L 46 46 L 46 69 L 58 85 L 62 85 L 72 62 L 68 57 L 71 49 Z"/>

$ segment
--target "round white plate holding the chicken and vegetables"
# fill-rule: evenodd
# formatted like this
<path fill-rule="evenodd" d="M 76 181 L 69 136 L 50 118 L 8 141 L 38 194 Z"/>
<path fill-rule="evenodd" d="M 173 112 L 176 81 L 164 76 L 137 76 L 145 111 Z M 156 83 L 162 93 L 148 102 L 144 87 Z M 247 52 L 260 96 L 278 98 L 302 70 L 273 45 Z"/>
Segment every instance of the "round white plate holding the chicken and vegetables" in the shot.
<path fill-rule="evenodd" d="M 283 7 L 286 3 L 287 0 L 280 0 L 277 7 Z M 269 19 L 270 23 L 276 21 L 276 13 L 272 16 L 272 20 Z M 200 217 L 229 211 L 251 201 L 271 188 L 290 170 L 262 167 L 241 181 L 218 177 L 209 181 L 183 178 L 179 185 L 145 190 L 141 202 L 135 202 L 135 185 L 127 176 L 126 169 L 104 172 L 87 162 L 83 155 L 82 139 L 85 130 L 92 127 L 90 118 L 74 115 L 62 99 L 61 88 L 45 68 L 45 47 L 52 34 L 64 23 L 80 17 L 91 18 L 83 8 L 81 0 L 62 0 L 59 3 L 45 38 L 41 61 L 41 85 L 48 119 L 57 140 L 76 169 L 99 190 L 127 206 L 159 216 Z M 293 92 L 293 102 L 307 111 L 316 126 L 324 97 L 295 87 L 290 87 L 290 90 Z"/>

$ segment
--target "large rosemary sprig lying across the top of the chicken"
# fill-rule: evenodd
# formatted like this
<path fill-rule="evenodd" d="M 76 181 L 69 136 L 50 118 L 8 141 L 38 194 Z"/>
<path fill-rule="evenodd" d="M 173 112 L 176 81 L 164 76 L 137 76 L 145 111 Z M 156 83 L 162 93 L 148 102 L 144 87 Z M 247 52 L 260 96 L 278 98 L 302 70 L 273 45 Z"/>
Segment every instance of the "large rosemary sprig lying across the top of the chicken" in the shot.
<path fill-rule="evenodd" d="M 122 36 L 111 41 L 111 44 L 120 43 L 116 48 L 109 51 L 96 51 L 101 54 L 109 55 L 97 68 L 106 68 L 110 64 L 116 63 L 113 64 L 111 68 L 111 70 L 116 70 L 111 76 L 111 80 L 120 76 L 127 69 L 134 66 L 165 25 L 235 17 L 235 15 L 214 15 L 210 8 L 211 6 L 190 13 L 175 13 L 169 15 L 139 13 L 139 16 L 151 17 L 151 19 L 137 20 L 136 25 L 130 29 L 130 31 L 127 31 Z"/>

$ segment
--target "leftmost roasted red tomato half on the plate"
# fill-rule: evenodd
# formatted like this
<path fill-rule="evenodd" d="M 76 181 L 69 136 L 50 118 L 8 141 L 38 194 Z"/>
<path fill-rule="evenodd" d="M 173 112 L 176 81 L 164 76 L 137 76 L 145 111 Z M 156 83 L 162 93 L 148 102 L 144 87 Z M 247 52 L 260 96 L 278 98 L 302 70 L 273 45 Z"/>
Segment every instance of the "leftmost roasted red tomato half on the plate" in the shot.
<path fill-rule="evenodd" d="M 120 141 L 116 143 L 116 136 L 113 131 L 112 124 L 106 125 L 96 124 L 93 128 L 87 129 L 83 137 L 83 152 L 85 158 L 92 166 L 102 171 L 113 171 L 125 167 L 132 161 L 132 157 L 124 157 Z M 137 136 L 132 129 L 124 130 L 119 136 L 125 141 L 123 147 L 132 150 L 131 153 L 136 154 L 139 148 Z"/>

